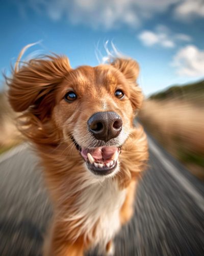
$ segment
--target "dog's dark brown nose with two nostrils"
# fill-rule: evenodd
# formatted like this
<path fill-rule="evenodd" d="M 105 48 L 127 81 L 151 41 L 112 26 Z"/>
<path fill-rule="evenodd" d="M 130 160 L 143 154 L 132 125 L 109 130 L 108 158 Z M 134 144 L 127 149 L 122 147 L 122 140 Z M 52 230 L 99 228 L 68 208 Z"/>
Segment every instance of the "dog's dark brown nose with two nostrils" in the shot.
<path fill-rule="evenodd" d="M 97 112 L 89 118 L 88 129 L 96 139 L 108 141 L 121 132 L 122 119 L 115 112 Z"/>

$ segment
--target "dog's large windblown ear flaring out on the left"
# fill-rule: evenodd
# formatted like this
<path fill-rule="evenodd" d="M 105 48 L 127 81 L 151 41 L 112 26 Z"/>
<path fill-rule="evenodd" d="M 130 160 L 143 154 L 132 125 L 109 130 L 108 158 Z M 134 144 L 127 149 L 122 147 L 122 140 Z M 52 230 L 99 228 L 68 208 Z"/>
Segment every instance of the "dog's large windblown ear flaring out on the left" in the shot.
<path fill-rule="evenodd" d="M 18 117 L 19 130 L 35 143 L 56 141 L 59 130 L 52 122 L 56 91 L 71 67 L 66 56 L 50 55 L 21 62 L 6 78 L 8 99 Z"/>

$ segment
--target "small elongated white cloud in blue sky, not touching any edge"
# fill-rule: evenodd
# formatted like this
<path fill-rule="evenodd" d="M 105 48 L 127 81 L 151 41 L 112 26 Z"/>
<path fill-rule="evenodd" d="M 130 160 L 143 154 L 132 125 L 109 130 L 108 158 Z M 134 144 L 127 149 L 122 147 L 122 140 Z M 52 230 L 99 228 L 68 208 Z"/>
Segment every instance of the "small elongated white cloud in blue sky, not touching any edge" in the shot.
<path fill-rule="evenodd" d="M 160 45 L 164 48 L 175 47 L 178 41 L 190 41 L 191 37 L 186 34 L 173 34 L 167 27 L 159 25 L 154 31 L 144 30 L 138 38 L 143 42 L 145 46 L 151 47 L 154 45 Z"/>

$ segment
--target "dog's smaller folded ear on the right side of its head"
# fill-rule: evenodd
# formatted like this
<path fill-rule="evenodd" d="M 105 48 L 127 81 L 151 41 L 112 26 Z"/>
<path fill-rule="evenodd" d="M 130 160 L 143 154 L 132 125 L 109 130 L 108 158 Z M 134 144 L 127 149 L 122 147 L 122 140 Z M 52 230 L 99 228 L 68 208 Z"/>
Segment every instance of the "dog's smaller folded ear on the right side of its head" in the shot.
<path fill-rule="evenodd" d="M 124 77 L 130 82 L 130 100 L 135 111 L 142 106 L 143 95 L 141 89 L 138 87 L 137 78 L 139 74 L 139 65 L 137 61 L 129 59 L 116 58 L 111 65 L 119 70 Z"/>

